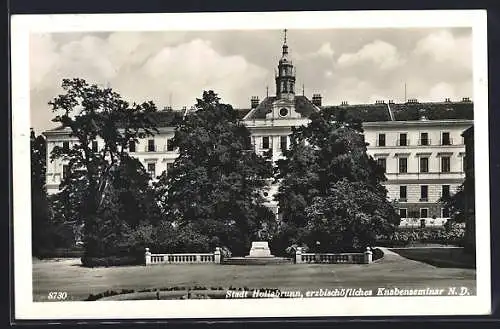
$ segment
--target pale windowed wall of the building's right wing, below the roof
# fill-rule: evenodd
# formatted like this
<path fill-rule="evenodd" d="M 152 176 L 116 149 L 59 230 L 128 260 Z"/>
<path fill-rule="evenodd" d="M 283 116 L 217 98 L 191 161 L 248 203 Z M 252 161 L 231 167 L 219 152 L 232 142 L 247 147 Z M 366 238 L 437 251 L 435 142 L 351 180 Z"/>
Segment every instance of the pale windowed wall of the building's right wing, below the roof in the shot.
<path fill-rule="evenodd" d="M 471 125 L 470 120 L 364 124 L 367 153 L 375 160 L 385 159 L 387 181 L 384 185 L 388 197 L 397 203 L 399 209 L 404 209 L 401 226 L 421 226 L 422 219 L 426 226 L 443 225 L 449 218 L 438 201 L 442 197 L 443 185 L 449 186 L 450 194 L 453 194 L 464 181 L 465 145 L 461 133 Z M 444 132 L 449 134 L 449 145 L 443 145 Z M 427 133 L 427 145 L 422 145 L 422 133 Z M 384 146 L 379 144 L 380 134 L 385 134 Z M 400 134 L 406 134 L 406 146 L 399 145 Z M 449 170 L 442 166 L 443 157 L 449 158 Z M 406 158 L 406 172 L 400 172 L 400 158 Z M 427 158 L 427 170 L 422 170 L 421 158 Z M 401 186 L 406 186 L 406 199 L 401 199 Z M 427 186 L 427 199 L 421 198 L 422 186 Z M 423 216 L 425 211 L 426 217 Z"/>

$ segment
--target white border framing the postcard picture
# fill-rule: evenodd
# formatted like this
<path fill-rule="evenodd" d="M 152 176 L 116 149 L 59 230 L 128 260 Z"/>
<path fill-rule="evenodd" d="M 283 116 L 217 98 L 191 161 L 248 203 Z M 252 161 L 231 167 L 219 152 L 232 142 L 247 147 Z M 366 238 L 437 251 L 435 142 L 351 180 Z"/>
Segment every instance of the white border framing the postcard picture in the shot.
<path fill-rule="evenodd" d="M 21 319 L 238 318 L 287 316 L 391 316 L 489 314 L 490 232 L 488 79 L 485 10 L 189 13 L 12 16 L 12 139 L 15 317 Z M 477 296 L 248 299 L 121 302 L 37 302 L 32 300 L 30 221 L 31 32 L 160 31 L 322 28 L 473 28 L 476 171 Z M 184 307 L 189 306 L 189 307 Z"/>

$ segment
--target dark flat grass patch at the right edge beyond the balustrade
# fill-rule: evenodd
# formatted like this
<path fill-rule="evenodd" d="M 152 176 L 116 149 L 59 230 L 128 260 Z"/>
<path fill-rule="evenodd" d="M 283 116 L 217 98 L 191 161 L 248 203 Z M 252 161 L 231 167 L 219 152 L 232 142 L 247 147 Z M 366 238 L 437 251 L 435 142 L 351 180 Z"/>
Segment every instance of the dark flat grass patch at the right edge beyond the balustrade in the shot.
<path fill-rule="evenodd" d="M 399 255 L 442 268 L 476 268 L 476 259 L 463 248 L 391 249 Z"/>

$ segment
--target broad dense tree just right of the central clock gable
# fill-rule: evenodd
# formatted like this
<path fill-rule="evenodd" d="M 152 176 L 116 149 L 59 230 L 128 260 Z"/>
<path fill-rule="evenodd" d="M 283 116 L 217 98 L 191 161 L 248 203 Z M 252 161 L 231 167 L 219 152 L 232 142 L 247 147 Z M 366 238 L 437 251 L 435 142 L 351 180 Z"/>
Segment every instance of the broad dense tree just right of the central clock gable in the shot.
<path fill-rule="evenodd" d="M 381 184 L 384 171 L 366 153 L 359 120 L 345 111 L 314 113 L 293 129 L 278 161 L 276 199 L 289 244 L 313 249 L 361 248 L 394 230 L 399 216 Z"/>

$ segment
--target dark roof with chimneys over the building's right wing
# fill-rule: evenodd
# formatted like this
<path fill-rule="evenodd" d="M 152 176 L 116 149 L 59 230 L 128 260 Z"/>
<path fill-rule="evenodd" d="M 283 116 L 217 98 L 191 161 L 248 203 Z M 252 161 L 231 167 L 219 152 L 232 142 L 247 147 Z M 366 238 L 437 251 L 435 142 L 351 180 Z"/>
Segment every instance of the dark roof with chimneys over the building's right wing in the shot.
<path fill-rule="evenodd" d="M 345 109 L 348 115 L 363 122 L 391 121 L 390 111 L 395 121 L 414 121 L 425 116 L 428 120 L 473 120 L 472 102 L 426 102 L 426 103 L 376 103 L 323 106 L 323 109 Z"/>

